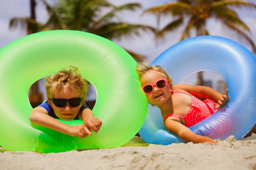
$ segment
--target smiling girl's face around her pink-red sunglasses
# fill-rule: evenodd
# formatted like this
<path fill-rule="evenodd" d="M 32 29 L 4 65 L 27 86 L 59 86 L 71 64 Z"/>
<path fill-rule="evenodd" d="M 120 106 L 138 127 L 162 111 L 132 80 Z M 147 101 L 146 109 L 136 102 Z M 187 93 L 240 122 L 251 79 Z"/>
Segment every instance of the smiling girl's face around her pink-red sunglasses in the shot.
<path fill-rule="evenodd" d="M 141 78 L 141 86 L 145 86 L 146 84 L 155 83 L 160 79 L 166 79 L 163 74 L 158 73 L 157 71 L 147 71 L 146 74 Z M 160 104 L 166 103 L 168 99 L 171 97 L 171 84 L 167 84 L 166 88 L 160 90 L 156 86 L 153 88 L 153 92 L 150 95 L 146 94 L 148 103 L 159 106 Z"/>

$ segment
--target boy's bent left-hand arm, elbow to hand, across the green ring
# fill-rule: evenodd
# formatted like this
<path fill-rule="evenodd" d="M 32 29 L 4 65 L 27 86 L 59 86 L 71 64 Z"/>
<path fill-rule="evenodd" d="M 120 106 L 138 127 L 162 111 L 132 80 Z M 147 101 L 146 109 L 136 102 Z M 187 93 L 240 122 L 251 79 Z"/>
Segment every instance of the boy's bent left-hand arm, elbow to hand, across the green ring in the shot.
<path fill-rule="evenodd" d="M 43 107 L 36 107 L 32 110 L 30 114 L 30 121 L 32 124 L 56 130 L 60 133 L 68 134 L 71 136 L 78 135 L 79 138 L 87 136 L 84 131 L 84 125 L 68 126 L 63 124 L 63 122 L 57 121 L 55 118 L 49 116 L 46 109 Z"/>

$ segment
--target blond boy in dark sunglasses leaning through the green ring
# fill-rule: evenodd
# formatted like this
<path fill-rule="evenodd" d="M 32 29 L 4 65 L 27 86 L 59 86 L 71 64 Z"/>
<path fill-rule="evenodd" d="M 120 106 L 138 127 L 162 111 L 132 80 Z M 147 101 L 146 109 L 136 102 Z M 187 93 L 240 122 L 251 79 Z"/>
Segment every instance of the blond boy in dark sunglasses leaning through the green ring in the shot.
<path fill-rule="evenodd" d="M 32 124 L 59 131 L 79 138 L 98 133 L 102 122 L 86 107 L 85 97 L 89 84 L 76 67 L 62 69 L 55 75 L 44 78 L 47 100 L 34 108 L 30 114 Z M 84 125 L 69 126 L 57 121 L 83 120 Z"/>

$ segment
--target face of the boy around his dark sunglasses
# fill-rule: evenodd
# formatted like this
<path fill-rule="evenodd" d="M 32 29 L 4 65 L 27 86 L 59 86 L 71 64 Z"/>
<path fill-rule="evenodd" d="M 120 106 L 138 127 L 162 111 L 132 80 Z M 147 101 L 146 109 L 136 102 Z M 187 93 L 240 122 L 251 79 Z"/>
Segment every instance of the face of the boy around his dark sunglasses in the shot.
<path fill-rule="evenodd" d="M 56 94 L 53 95 L 53 99 L 72 99 L 79 97 L 81 97 L 79 92 L 73 91 L 71 90 L 71 88 L 68 87 L 61 88 L 58 92 L 56 92 Z M 71 121 L 77 116 L 77 114 L 79 114 L 80 108 L 82 104 L 85 102 L 85 99 L 82 100 L 81 104 L 77 107 L 71 107 L 67 102 L 67 105 L 65 105 L 65 107 L 63 108 L 56 107 L 51 100 L 47 99 L 47 101 L 49 105 L 52 107 L 56 116 L 60 118 L 60 120 Z"/>

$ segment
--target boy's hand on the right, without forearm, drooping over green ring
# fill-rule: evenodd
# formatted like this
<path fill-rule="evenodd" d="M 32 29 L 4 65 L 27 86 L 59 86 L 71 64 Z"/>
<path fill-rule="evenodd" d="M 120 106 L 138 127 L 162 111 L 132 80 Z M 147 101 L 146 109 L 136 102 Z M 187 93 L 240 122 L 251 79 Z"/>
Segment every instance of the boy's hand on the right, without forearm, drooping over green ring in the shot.
<path fill-rule="evenodd" d="M 98 133 L 98 131 L 101 128 L 101 125 L 102 125 L 102 122 L 100 118 L 98 117 L 89 118 L 88 120 L 86 120 L 86 122 L 84 122 L 86 134 L 92 135 L 91 130 L 93 130 L 95 133 Z"/>

